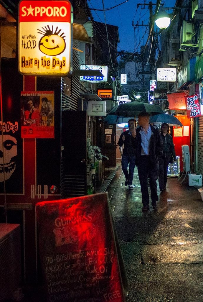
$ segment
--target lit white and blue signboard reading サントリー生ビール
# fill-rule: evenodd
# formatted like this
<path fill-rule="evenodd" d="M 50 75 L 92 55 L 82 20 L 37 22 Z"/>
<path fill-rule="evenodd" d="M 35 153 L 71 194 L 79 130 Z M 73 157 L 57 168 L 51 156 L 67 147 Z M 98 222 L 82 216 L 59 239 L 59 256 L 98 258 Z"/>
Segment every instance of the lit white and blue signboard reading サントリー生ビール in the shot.
<path fill-rule="evenodd" d="M 80 69 L 82 70 L 99 70 L 101 76 L 81 76 L 80 81 L 93 82 L 93 83 L 105 83 L 108 81 L 108 66 L 101 65 L 81 65 Z"/>

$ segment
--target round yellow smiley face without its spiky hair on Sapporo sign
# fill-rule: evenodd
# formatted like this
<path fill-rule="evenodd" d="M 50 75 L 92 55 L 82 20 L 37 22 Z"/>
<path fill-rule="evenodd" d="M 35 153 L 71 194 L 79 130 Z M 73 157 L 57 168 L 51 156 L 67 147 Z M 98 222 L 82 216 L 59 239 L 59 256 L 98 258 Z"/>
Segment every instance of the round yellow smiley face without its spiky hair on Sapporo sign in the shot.
<path fill-rule="evenodd" d="M 40 39 L 39 49 L 48 56 L 56 56 L 65 50 L 65 40 L 57 34 L 45 35 Z"/>

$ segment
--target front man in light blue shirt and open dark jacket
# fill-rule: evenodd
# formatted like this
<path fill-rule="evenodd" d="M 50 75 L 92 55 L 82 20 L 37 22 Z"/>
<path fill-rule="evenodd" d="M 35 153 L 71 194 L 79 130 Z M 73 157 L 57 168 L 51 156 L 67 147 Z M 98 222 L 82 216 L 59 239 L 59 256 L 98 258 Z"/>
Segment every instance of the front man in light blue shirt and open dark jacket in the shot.
<path fill-rule="evenodd" d="M 136 149 L 135 165 L 138 167 L 142 193 L 142 211 L 149 210 L 149 192 L 147 178 L 151 189 L 151 204 L 157 210 L 157 179 L 159 177 L 159 158 L 163 155 L 163 141 L 159 129 L 149 124 L 150 115 L 141 112 L 138 115 L 138 127 L 132 131 L 132 145 Z"/>

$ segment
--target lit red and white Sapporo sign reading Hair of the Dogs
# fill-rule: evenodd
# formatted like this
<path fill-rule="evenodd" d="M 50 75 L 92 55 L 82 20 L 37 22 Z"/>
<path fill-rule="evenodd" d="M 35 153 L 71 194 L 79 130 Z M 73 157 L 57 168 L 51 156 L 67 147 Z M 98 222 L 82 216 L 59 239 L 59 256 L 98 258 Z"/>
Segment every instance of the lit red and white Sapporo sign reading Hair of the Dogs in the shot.
<path fill-rule="evenodd" d="M 18 69 L 23 75 L 67 75 L 71 69 L 69 1 L 19 3 Z"/>

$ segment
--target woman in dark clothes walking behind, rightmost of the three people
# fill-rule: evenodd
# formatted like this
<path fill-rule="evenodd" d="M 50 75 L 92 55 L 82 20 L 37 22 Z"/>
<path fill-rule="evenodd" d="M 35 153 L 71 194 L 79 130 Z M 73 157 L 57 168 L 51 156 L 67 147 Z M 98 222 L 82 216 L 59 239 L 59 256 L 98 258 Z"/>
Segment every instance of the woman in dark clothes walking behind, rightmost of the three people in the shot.
<path fill-rule="evenodd" d="M 163 192 L 166 190 L 167 172 L 170 155 L 173 155 L 173 160 L 176 162 L 176 153 L 173 145 L 173 138 L 168 133 L 169 125 L 163 123 L 161 125 L 160 132 L 163 140 L 163 156 L 159 159 L 159 189 L 160 192 Z"/>

